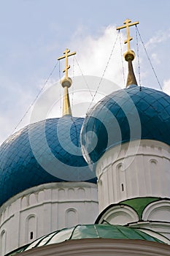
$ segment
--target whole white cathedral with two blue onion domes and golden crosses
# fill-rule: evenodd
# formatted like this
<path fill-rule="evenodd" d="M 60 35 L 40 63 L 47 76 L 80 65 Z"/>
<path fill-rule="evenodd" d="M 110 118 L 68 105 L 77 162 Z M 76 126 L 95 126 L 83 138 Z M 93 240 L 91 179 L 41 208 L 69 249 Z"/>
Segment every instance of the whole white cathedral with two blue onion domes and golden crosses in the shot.
<path fill-rule="evenodd" d="M 85 118 L 31 123 L 0 147 L 1 256 L 170 255 L 170 97 L 138 86 L 126 19 L 128 78 Z"/>

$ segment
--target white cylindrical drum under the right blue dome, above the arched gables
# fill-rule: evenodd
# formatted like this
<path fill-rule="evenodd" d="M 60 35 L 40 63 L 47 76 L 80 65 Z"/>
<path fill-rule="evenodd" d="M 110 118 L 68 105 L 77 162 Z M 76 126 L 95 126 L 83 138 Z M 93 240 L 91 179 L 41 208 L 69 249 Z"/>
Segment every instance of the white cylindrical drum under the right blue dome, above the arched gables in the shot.
<path fill-rule="evenodd" d="M 115 146 L 98 161 L 98 208 L 134 197 L 170 197 L 170 147 L 155 140 Z"/>

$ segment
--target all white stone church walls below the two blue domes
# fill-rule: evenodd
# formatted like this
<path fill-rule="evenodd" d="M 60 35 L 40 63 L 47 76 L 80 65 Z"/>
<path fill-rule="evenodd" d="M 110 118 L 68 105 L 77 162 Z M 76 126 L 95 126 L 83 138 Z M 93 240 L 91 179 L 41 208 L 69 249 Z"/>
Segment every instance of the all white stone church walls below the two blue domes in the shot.
<path fill-rule="evenodd" d="M 141 140 L 111 148 L 98 161 L 96 176 L 97 185 L 88 182 L 42 184 L 7 200 L 0 208 L 0 255 L 4 256 L 55 230 L 77 224 L 94 223 L 98 217 L 98 205 L 99 223 L 106 220 L 113 225 L 136 227 L 145 230 L 146 233 L 149 232 L 151 236 L 154 236 L 155 232 L 157 238 L 169 244 L 167 238 L 170 239 L 170 147 L 168 145 L 155 140 Z M 133 208 L 119 204 L 123 200 L 136 197 L 158 197 L 160 200 L 149 203 L 142 211 L 140 219 Z M 166 237 L 165 240 L 162 236 Z M 133 241 L 123 240 L 123 246 L 128 246 L 125 248 L 129 249 L 125 251 L 122 250 L 122 245 L 117 247 L 117 241 L 114 239 L 100 240 L 104 247 L 100 242 L 92 242 L 92 240 L 66 241 L 42 246 L 22 252 L 20 256 L 42 256 L 45 253 L 52 256 L 56 254 L 56 249 L 58 256 L 64 253 L 74 255 L 77 252 L 80 255 L 83 253 L 93 256 L 114 255 L 117 249 L 120 250 L 119 255 L 146 256 L 155 255 L 157 246 L 160 247 L 159 255 L 170 255 L 168 247 L 159 243 L 138 241 L 134 248 Z M 85 241 L 90 242 L 88 248 Z M 107 246 L 104 244 L 106 241 L 110 243 Z M 69 244 L 69 249 L 66 244 Z M 157 249 L 153 249 L 153 244 Z M 146 250 L 142 250 L 143 245 L 146 245 Z M 81 246 L 85 246 L 85 249 L 82 250 Z M 161 246 L 165 246 L 166 250 L 162 251 Z M 103 251 L 104 249 L 106 251 Z M 147 254 L 144 254 L 146 252 Z"/>

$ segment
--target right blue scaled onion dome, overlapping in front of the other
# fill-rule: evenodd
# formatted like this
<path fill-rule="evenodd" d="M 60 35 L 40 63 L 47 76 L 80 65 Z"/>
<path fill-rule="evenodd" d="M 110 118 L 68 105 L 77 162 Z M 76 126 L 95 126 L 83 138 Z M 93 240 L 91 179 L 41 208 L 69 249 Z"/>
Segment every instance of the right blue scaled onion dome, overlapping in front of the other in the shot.
<path fill-rule="evenodd" d="M 112 92 L 90 110 L 82 125 L 82 154 L 87 162 L 95 163 L 107 149 L 131 140 L 170 145 L 169 131 L 169 95 L 131 85 Z"/>

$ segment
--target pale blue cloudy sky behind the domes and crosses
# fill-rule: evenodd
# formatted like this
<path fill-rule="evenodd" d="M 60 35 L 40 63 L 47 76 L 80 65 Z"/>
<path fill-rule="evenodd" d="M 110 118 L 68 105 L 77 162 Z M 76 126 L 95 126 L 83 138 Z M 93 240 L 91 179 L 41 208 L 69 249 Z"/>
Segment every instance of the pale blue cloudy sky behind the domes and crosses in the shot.
<path fill-rule="evenodd" d="M 139 20 L 139 34 L 152 67 L 163 91 L 169 93 L 169 10 L 170 1 L 166 0 L 1 0 L 0 143 L 30 122 L 31 111 L 35 109 L 33 102 L 37 102 L 41 90 L 40 107 L 36 104 L 38 118 L 61 116 L 63 90 L 58 81 L 64 61 L 58 64 L 57 59 L 66 48 L 77 51 L 76 57 L 69 60 L 75 115 L 84 114 L 76 109 L 88 110 L 94 95 L 93 103 L 123 88 L 127 75 L 127 65 L 121 57 L 126 49 L 125 29 L 118 34 L 116 27 L 122 26 L 126 18 L 132 22 Z M 136 52 L 134 69 L 138 83 L 161 90 L 139 34 L 136 40 L 136 28 L 131 27 L 130 33 L 134 37 L 131 48 Z M 53 96 L 56 94 L 56 100 L 51 97 L 51 91 Z M 45 104 L 49 102 L 50 110 L 43 116 Z"/>

